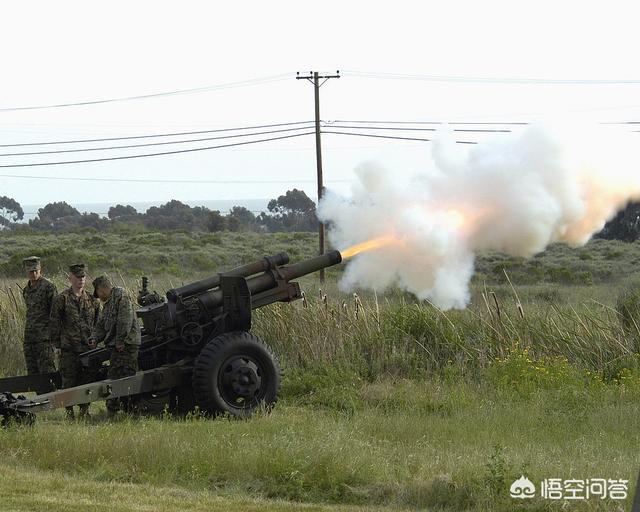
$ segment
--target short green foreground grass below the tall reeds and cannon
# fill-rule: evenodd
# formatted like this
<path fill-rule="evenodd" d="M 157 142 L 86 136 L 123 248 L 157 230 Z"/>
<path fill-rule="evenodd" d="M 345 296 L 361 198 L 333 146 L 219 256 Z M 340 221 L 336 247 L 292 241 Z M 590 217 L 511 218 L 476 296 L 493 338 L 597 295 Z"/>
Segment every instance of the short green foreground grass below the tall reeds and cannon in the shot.
<path fill-rule="evenodd" d="M 98 415 L 93 424 L 68 424 L 51 413 L 33 428 L 0 432 L 1 464 L 18 468 L 14 479 L 26 468 L 45 481 L 57 475 L 70 492 L 98 502 L 110 489 L 142 488 L 205 502 L 241 497 L 274 510 L 285 500 L 451 511 L 516 510 L 507 489 L 521 473 L 533 481 L 605 475 L 632 488 L 640 464 L 631 448 L 640 443 L 640 404 L 622 385 L 565 401 L 557 390 L 513 400 L 463 382 L 395 381 L 358 386 L 352 400 L 357 406 L 344 408 L 288 397 L 249 421 L 109 423 Z M 3 488 L 22 503 L 18 489 Z M 535 507 L 553 510 L 543 500 Z"/>

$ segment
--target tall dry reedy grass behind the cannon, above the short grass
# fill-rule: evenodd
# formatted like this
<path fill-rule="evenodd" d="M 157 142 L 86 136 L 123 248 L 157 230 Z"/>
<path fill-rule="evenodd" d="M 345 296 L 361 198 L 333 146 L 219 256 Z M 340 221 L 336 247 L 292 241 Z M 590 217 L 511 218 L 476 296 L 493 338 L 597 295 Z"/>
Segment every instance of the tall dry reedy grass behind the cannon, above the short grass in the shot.
<path fill-rule="evenodd" d="M 112 277 L 135 297 L 135 278 Z M 62 276 L 54 282 L 59 290 L 67 286 Z M 179 283 L 160 279 L 151 284 L 163 292 Z M 473 374 L 515 347 L 610 375 L 637 364 L 635 310 L 619 312 L 616 298 L 625 295 L 614 287 L 482 288 L 475 290 L 467 309 L 443 311 L 400 292 L 345 294 L 335 281 L 321 291 L 312 278 L 303 286 L 304 300 L 254 311 L 253 331 L 289 370 L 331 368 L 375 380 L 424 376 L 454 363 Z M 24 370 L 24 317 L 19 285 L 0 282 L 2 375 Z"/>

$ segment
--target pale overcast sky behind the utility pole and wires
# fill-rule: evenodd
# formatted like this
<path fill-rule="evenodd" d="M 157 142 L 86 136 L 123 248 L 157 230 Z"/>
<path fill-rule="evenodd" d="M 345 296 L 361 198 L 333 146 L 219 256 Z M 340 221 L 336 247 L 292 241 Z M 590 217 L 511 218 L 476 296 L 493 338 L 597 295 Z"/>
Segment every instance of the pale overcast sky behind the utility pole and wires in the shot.
<path fill-rule="evenodd" d="M 548 116 L 640 120 L 635 5 L 615 1 L 594 2 L 594 6 L 568 1 L 4 2 L 0 7 L 0 144 L 309 121 L 314 113 L 313 88 L 295 80 L 296 71 L 309 70 L 341 70 L 339 80 L 321 88 L 324 120 L 531 121 Z M 362 73 L 367 76 L 359 76 Z M 434 76 L 506 81 L 426 78 Z M 263 78 L 273 80 L 97 105 L 7 110 Z M 519 79 L 631 83 L 509 81 Z M 264 137 L 291 133 L 299 132 Z M 429 133 L 404 135 L 428 137 Z M 464 133 L 460 138 L 482 141 L 483 135 Z M 159 140 L 170 139 L 155 141 Z M 239 139 L 0 156 L 0 165 L 171 151 L 234 140 Z M 142 142 L 152 140 L 93 147 Z M 80 147 L 92 146 L 55 149 Z M 324 135 L 325 184 L 347 193 L 353 168 L 366 160 L 380 161 L 397 172 L 418 171 L 429 165 L 429 147 L 425 142 Z M 0 149 L 7 154 L 53 148 Z M 293 187 L 303 188 L 314 199 L 316 193 L 313 136 L 112 162 L 1 167 L 0 175 L 0 195 L 22 204 L 270 198 Z M 236 183 L 59 179 L 78 177 Z"/>

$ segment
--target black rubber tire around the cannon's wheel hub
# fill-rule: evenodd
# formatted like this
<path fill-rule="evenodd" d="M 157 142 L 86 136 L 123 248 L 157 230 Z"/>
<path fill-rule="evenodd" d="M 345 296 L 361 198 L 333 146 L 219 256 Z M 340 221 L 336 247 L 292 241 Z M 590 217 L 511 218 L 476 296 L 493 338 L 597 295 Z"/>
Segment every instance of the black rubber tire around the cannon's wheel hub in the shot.
<path fill-rule="evenodd" d="M 247 356 L 261 370 L 259 395 L 248 405 L 236 406 L 222 396 L 219 389 L 223 365 L 233 357 Z M 251 333 L 229 332 L 210 340 L 198 354 L 193 368 L 193 394 L 196 404 L 205 414 L 224 414 L 247 418 L 260 407 L 270 410 L 278 400 L 282 372 L 271 349 Z"/>

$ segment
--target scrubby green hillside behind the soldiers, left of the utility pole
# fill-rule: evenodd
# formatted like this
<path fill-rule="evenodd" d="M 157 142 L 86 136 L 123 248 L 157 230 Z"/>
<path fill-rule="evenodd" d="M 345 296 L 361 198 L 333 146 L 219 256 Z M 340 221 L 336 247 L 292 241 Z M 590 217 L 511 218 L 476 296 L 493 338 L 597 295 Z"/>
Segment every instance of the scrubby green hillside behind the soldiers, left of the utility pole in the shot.
<path fill-rule="evenodd" d="M 74 262 L 84 261 L 94 275 L 101 272 L 131 275 L 169 275 L 193 280 L 288 251 L 293 259 L 312 256 L 313 233 L 0 233 L 0 277 L 19 277 L 22 259 L 42 257 L 45 273 L 63 274 Z"/>

